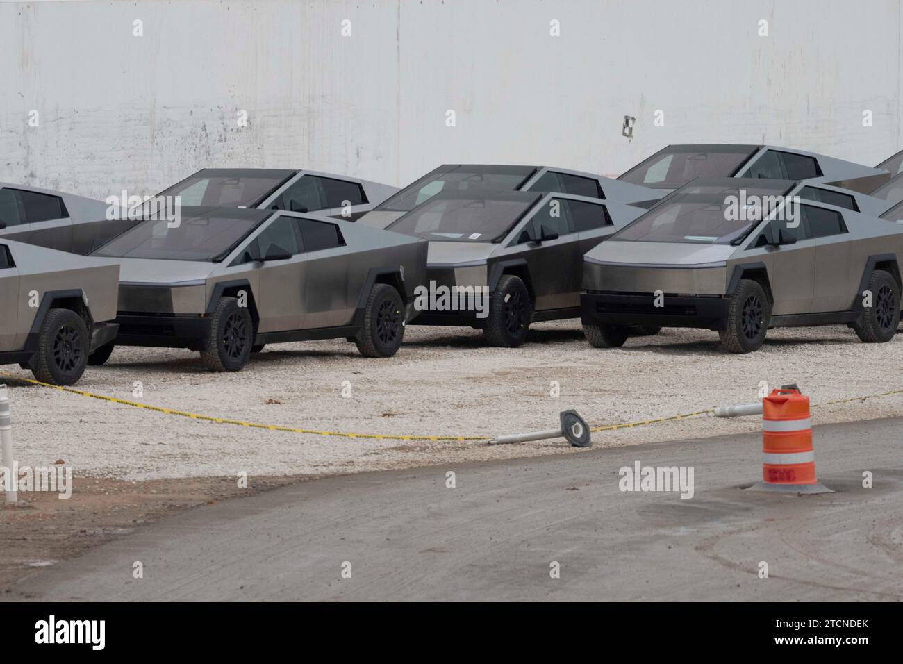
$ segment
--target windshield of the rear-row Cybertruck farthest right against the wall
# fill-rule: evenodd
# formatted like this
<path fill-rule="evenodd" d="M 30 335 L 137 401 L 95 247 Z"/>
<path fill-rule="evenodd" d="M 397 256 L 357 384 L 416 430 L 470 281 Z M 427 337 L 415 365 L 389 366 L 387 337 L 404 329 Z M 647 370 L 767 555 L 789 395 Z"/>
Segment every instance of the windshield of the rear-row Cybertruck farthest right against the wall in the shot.
<path fill-rule="evenodd" d="M 663 189 L 677 189 L 697 177 L 730 177 L 755 148 L 696 151 L 675 146 L 654 154 L 631 168 L 618 179 L 633 184 Z"/>

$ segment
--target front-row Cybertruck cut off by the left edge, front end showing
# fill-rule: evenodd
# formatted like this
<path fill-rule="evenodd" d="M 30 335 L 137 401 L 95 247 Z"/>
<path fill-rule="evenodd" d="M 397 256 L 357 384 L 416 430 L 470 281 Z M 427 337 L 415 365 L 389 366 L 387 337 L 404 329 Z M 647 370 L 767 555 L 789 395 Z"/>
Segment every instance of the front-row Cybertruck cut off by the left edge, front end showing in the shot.
<path fill-rule="evenodd" d="M 116 337 L 119 266 L 0 238 L 0 364 L 73 385 Z"/>

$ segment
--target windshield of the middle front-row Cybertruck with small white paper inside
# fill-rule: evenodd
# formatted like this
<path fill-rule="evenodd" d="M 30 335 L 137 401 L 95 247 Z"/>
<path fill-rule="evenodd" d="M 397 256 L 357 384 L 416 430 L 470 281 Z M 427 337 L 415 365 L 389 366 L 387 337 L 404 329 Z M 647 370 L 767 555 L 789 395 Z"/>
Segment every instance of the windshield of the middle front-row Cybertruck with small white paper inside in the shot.
<path fill-rule="evenodd" d="M 526 194 L 524 194 L 526 195 Z M 388 230 L 446 242 L 491 242 L 502 238 L 538 197 L 434 199 L 389 224 Z"/>

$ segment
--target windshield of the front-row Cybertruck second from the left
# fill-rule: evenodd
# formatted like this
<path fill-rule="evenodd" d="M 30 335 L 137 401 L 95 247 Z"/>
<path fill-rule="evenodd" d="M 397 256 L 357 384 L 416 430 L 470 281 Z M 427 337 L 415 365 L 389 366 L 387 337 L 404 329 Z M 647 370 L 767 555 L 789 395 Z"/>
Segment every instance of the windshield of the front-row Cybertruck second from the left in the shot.
<path fill-rule="evenodd" d="M 143 221 L 92 255 L 219 261 L 271 214 L 269 210 L 259 210 L 256 214 L 251 214 L 252 211 L 256 210 L 216 210 L 190 216 L 182 210 L 178 227 L 169 228 L 165 220 Z"/>

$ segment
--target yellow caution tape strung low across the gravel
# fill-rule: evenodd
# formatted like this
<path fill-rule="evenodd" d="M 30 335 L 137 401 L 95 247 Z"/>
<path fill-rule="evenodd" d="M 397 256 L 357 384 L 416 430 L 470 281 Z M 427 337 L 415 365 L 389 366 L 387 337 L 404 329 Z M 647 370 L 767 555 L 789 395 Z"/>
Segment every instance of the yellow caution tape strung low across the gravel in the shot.
<path fill-rule="evenodd" d="M 151 406 L 150 404 L 143 404 L 139 401 L 129 401 L 128 399 L 121 399 L 118 397 L 107 397 L 102 394 L 94 394 L 93 392 L 88 392 L 82 389 L 74 389 L 74 388 L 65 388 L 60 385 L 51 385 L 50 383 L 42 383 L 40 380 L 34 379 L 26 379 L 20 376 L 14 376 L 8 371 L 0 371 L 0 376 L 5 376 L 6 378 L 19 380 L 23 383 L 31 383 L 32 385 L 40 385 L 42 388 L 53 388 L 59 389 L 61 392 L 69 392 L 70 394 L 77 394 L 80 397 L 90 397 L 94 399 L 99 399 L 100 401 L 107 401 L 113 404 L 120 404 L 122 406 L 131 406 L 135 408 L 144 408 L 145 410 L 153 410 L 156 413 L 163 413 L 164 415 L 177 415 L 181 417 L 189 417 L 191 419 L 202 420 L 204 422 L 214 422 L 219 425 L 237 425 L 237 426 L 247 426 L 253 429 L 269 429 L 270 431 L 285 431 L 292 434 L 311 434 L 311 435 L 331 435 L 338 438 L 369 438 L 375 440 L 413 440 L 413 441 L 489 441 L 492 440 L 489 436 L 485 435 L 386 435 L 386 434 L 353 434 L 349 432 L 343 431 L 320 431 L 319 429 L 302 429 L 293 426 L 279 426 L 279 425 L 263 425 L 258 424 L 256 422 L 244 422 L 242 420 L 237 419 L 228 419 L 226 417 L 214 417 L 209 415 L 199 415 L 197 413 L 189 413 L 184 410 L 175 410 L 174 408 L 164 408 L 160 406 Z M 891 397 L 893 395 L 903 394 L 903 389 L 895 389 L 889 392 L 880 392 L 878 394 L 870 394 L 865 395 L 864 397 L 847 397 L 842 399 L 835 399 L 833 401 L 826 401 L 824 404 L 814 404 L 812 407 L 824 407 L 824 406 L 834 406 L 837 404 L 846 404 L 852 401 L 864 401 L 870 398 L 877 397 Z M 639 420 L 637 422 L 625 422 L 618 425 L 601 425 L 601 426 L 591 426 L 590 431 L 593 433 L 598 433 L 600 431 L 617 431 L 619 429 L 632 429 L 637 426 L 649 426 L 656 425 L 662 422 L 671 422 L 672 420 L 686 419 L 688 417 L 696 417 L 703 415 L 712 415 L 714 413 L 714 408 L 706 408 L 705 410 L 696 410 L 692 413 L 682 413 L 680 415 L 671 415 L 667 417 L 656 417 L 655 419 L 645 419 Z"/>

